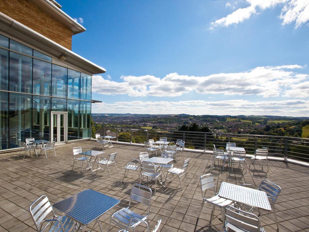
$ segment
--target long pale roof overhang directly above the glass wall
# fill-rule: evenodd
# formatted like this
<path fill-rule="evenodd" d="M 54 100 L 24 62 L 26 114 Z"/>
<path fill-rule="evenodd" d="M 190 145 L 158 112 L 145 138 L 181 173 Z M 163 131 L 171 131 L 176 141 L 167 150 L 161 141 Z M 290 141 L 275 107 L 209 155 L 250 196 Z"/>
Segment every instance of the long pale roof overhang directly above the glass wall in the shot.
<path fill-rule="evenodd" d="M 83 69 L 91 74 L 104 73 L 106 70 L 95 63 L 81 57 L 71 50 L 57 44 L 40 33 L 28 28 L 11 17 L 0 12 L 0 31 L 6 32 L 25 43 L 36 47 L 47 54 L 60 58 L 66 56 L 66 63 Z"/>

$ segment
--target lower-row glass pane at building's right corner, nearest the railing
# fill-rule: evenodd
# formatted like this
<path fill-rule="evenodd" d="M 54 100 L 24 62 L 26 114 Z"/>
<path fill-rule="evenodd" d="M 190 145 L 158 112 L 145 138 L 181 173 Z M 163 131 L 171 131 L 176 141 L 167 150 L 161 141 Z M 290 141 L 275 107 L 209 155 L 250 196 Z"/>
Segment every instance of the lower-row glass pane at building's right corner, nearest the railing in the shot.
<path fill-rule="evenodd" d="M 80 102 L 80 133 L 79 133 L 79 136 L 81 139 L 91 137 L 90 114 L 91 114 L 91 102 L 81 101 Z"/>

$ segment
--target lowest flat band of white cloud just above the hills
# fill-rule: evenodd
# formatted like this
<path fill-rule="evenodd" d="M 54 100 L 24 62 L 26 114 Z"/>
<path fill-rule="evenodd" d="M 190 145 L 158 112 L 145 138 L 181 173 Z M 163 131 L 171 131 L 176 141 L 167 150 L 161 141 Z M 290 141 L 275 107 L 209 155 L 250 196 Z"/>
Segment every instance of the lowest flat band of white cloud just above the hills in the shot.
<path fill-rule="evenodd" d="M 169 106 L 169 107 L 167 107 Z M 172 107 L 171 107 L 172 106 Z M 229 114 L 307 116 L 309 101 L 121 101 L 112 104 L 95 103 L 92 113 L 133 114 Z"/>

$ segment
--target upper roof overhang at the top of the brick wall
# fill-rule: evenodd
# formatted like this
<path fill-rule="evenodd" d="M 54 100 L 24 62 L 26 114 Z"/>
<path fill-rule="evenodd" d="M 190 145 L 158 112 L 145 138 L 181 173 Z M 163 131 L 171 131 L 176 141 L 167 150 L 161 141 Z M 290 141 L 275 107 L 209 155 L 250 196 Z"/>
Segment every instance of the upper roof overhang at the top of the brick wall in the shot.
<path fill-rule="evenodd" d="M 61 6 L 57 2 L 50 0 L 30 0 L 30 2 L 32 2 L 42 11 L 44 11 L 63 25 L 70 28 L 73 35 L 86 31 L 86 28 L 84 28 L 81 24 L 72 19 L 64 11 L 62 11 L 60 9 Z"/>

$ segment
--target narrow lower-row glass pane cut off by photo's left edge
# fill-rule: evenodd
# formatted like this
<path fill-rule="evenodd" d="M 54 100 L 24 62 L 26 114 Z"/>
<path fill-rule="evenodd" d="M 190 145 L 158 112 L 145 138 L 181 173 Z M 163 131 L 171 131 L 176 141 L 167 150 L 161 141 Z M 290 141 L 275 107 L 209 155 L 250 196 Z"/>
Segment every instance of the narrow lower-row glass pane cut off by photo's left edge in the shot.
<path fill-rule="evenodd" d="M 9 93 L 0 92 L 0 150 L 9 148 L 8 97 Z"/>

